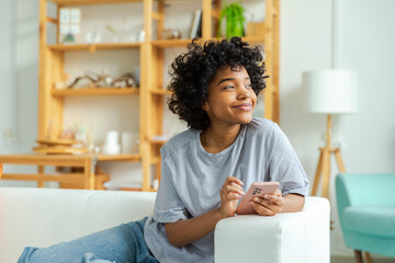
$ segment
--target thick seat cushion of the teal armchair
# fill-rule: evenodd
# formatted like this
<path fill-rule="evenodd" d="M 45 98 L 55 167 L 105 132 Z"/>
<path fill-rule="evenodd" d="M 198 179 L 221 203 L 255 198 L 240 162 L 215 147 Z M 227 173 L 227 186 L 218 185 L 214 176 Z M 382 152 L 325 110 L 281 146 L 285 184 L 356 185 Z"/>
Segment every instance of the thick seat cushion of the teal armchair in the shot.
<path fill-rule="evenodd" d="M 395 237 L 395 207 L 350 206 L 342 214 L 346 229 L 357 232 Z"/>

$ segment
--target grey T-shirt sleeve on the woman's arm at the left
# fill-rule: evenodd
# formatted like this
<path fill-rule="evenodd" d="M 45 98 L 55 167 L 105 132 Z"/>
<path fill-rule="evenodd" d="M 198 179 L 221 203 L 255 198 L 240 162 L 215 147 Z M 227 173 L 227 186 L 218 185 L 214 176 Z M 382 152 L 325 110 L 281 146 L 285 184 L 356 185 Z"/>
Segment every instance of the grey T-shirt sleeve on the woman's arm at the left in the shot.
<path fill-rule="evenodd" d="M 176 191 L 171 172 L 171 164 L 162 161 L 160 185 L 154 208 L 154 219 L 158 222 L 173 222 L 190 217 Z"/>

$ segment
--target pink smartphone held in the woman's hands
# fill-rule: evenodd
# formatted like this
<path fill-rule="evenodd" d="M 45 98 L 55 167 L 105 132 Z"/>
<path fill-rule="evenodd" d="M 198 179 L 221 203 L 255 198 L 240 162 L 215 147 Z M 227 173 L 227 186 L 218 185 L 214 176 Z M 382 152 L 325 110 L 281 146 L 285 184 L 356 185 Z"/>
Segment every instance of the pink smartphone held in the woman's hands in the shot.
<path fill-rule="evenodd" d="M 252 215 L 257 214 L 253 209 L 250 201 L 256 197 L 262 197 L 266 194 L 273 195 L 274 192 L 279 188 L 279 182 L 256 182 L 252 183 L 247 194 L 239 202 L 236 214 L 237 215 Z"/>

